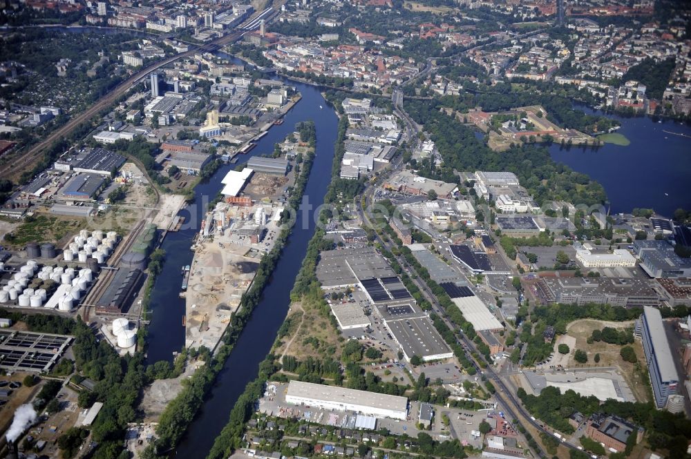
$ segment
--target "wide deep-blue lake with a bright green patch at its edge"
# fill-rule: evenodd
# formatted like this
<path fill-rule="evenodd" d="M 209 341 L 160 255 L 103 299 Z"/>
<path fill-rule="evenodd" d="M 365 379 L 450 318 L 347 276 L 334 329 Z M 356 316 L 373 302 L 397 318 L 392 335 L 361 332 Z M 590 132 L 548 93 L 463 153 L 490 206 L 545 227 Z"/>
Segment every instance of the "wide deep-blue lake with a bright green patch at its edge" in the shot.
<path fill-rule="evenodd" d="M 691 209 L 691 138 L 663 132 L 691 136 L 691 127 L 678 121 L 657 123 L 650 117 L 607 116 L 621 122 L 616 132 L 625 135 L 630 145 L 567 150 L 554 144 L 549 147 L 551 157 L 600 182 L 612 213 L 640 207 L 671 217 L 676 208 Z"/>

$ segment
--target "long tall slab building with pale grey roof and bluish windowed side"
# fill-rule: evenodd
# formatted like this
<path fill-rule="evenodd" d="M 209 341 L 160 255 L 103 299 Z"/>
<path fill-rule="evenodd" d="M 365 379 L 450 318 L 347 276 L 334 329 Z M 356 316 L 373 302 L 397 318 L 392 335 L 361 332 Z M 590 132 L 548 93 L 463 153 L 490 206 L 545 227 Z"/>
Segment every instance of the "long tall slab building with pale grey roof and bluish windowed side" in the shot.
<path fill-rule="evenodd" d="M 641 332 L 655 404 L 658 408 L 663 408 L 669 396 L 676 393 L 679 375 L 674 367 L 660 311 L 651 306 L 643 306 L 643 315 L 636 323 L 636 328 Z"/>

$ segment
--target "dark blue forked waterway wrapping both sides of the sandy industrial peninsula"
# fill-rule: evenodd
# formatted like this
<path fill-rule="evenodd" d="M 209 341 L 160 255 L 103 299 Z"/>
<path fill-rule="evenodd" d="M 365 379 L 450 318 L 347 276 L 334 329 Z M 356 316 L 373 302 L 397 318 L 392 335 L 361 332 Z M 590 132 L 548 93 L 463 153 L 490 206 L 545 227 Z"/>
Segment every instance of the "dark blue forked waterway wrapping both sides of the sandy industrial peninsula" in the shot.
<path fill-rule="evenodd" d="M 227 57 L 227 56 L 223 56 Z M 290 303 L 290 291 L 295 281 L 307 243 L 314 234 L 314 208 L 323 203 L 331 181 L 331 167 L 334 156 L 334 143 L 337 138 L 338 118 L 328 106 L 319 89 L 313 86 L 288 82 L 301 93 L 302 99 L 285 115 L 285 122 L 274 126 L 258 141 L 250 155 L 240 156 L 243 162 L 252 155 L 272 153 L 274 144 L 282 141 L 293 132 L 299 121 L 314 121 L 316 127 L 316 155 L 310 179 L 305 188 L 312 207 L 300 209 L 296 225 L 276 264 L 272 280 L 263 292 L 261 302 L 256 306 L 252 318 L 245 326 L 229 358 L 220 371 L 216 386 L 209 393 L 197 418 L 187 430 L 186 436 L 178 446 L 176 457 L 203 458 L 214 444 L 216 436 L 225 426 L 229 413 L 245 385 L 256 378 L 259 363 L 265 358 L 283 323 Z M 323 107 L 323 108 L 320 108 Z M 214 199 L 222 188 L 220 180 L 234 168 L 226 165 L 214 174 L 208 182 L 195 188 L 195 202 L 181 211 L 187 218 L 181 231 L 169 233 L 162 248 L 166 251 L 166 261 L 151 294 L 151 324 L 149 325 L 148 361 L 171 360 L 173 351 L 184 345 L 184 300 L 178 297 L 182 282 L 182 267 L 191 264 L 193 253 L 189 250 L 191 240 L 199 231 L 207 203 Z M 303 213 L 309 222 L 303 225 Z"/>

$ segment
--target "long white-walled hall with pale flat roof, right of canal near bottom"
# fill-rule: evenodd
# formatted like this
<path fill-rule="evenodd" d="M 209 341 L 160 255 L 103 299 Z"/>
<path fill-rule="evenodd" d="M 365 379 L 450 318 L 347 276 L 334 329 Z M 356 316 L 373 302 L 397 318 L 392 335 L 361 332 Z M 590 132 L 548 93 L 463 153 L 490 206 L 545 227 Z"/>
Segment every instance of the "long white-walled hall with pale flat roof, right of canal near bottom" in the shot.
<path fill-rule="evenodd" d="M 405 420 L 408 417 L 408 398 L 344 387 L 325 386 L 312 382 L 291 381 L 285 401 L 322 409 L 354 411 L 368 416 Z"/>

